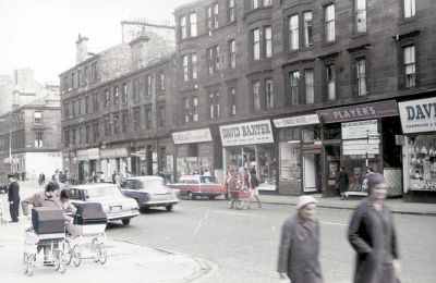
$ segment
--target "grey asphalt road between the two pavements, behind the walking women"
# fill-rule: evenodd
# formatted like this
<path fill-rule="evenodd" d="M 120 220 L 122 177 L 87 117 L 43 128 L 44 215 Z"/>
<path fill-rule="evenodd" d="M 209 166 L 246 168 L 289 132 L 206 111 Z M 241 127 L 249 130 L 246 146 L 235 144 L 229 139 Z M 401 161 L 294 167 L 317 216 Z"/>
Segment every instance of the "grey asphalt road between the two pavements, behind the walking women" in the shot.
<path fill-rule="evenodd" d="M 107 235 L 193 255 L 213 262 L 215 270 L 199 281 L 278 282 L 277 251 L 282 222 L 294 207 L 264 205 L 232 210 L 223 200 L 182 200 L 173 211 L 152 209 L 130 226 L 113 224 Z M 326 283 L 351 282 L 354 251 L 347 238 L 351 210 L 318 209 Z M 436 218 L 396 214 L 401 282 L 433 283 L 436 279 Z"/>

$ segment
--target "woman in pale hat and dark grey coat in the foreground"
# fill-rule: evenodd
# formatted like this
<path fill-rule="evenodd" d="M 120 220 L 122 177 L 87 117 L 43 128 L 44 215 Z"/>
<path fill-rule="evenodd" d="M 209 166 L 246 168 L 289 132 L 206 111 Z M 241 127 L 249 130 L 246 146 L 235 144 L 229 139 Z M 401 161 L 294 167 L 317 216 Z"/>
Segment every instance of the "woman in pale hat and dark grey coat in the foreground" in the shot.
<path fill-rule="evenodd" d="M 312 196 L 301 196 L 296 213 L 281 229 L 278 269 L 281 279 L 292 283 L 322 283 L 319 264 L 319 223 Z"/>

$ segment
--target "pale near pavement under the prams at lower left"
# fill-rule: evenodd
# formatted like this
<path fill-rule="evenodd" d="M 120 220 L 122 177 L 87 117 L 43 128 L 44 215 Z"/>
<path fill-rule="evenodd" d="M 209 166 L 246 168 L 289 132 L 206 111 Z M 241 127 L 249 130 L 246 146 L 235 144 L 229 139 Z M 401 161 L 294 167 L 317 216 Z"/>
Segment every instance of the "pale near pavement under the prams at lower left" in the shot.
<path fill-rule="evenodd" d="M 41 188 L 33 182 L 21 182 L 22 199 Z M 0 194 L 2 213 L 10 220 L 5 194 Z M 0 207 L 1 211 L 1 207 Z M 22 211 L 20 209 L 20 213 Z M 43 266 L 43 253 L 37 255 L 33 276 L 23 272 L 24 231 L 31 225 L 27 217 L 20 217 L 17 223 L 0 224 L 0 282 L 195 282 L 213 270 L 213 263 L 190 255 L 161 250 L 129 243 L 122 238 L 107 237 L 108 259 L 105 264 L 94 262 L 90 251 L 85 248 L 78 267 L 72 262 L 64 274 L 53 267 Z"/>

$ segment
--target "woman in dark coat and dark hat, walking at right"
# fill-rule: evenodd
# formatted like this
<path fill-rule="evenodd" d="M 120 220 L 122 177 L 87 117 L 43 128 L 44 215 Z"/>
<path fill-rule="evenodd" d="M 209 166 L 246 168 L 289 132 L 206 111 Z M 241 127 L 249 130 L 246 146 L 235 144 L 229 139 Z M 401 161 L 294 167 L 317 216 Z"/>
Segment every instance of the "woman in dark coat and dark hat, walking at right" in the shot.
<path fill-rule="evenodd" d="M 354 283 L 396 283 L 401 264 L 393 218 L 385 205 L 388 185 L 379 173 L 368 175 L 368 197 L 355 208 L 348 239 L 356 253 Z"/>

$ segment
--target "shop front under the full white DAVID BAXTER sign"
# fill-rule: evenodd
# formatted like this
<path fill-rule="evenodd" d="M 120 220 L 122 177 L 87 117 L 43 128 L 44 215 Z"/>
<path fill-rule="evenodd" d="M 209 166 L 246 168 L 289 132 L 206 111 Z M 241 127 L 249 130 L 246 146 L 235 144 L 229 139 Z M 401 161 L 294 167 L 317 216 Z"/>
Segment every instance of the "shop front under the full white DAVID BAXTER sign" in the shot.
<path fill-rule="evenodd" d="M 243 172 L 255 167 L 261 190 L 276 192 L 277 147 L 269 120 L 219 126 L 222 165 Z"/>

